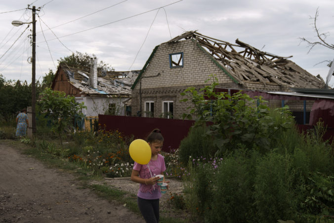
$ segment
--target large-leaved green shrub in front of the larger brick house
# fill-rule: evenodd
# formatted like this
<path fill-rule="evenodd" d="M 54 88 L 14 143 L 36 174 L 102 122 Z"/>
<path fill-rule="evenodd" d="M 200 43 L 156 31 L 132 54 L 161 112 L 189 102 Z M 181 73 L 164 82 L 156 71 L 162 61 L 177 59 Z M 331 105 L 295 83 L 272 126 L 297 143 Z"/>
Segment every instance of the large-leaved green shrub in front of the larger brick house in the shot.
<path fill-rule="evenodd" d="M 258 148 L 265 153 L 276 140 L 277 133 L 289 128 L 291 123 L 287 107 L 277 109 L 279 119 L 269 115 L 266 101 L 261 97 L 250 98 L 241 91 L 229 95 L 216 92 L 217 78 L 212 75 L 207 82 L 212 82 L 199 91 L 194 87 L 186 89 L 181 95 L 191 98 L 193 108 L 183 118 L 196 116 L 195 126 L 206 127 L 206 135 L 212 136 L 213 143 L 219 148 L 217 155 L 234 150 L 238 144 L 247 148 Z M 204 147 L 203 147 L 204 148 Z"/>

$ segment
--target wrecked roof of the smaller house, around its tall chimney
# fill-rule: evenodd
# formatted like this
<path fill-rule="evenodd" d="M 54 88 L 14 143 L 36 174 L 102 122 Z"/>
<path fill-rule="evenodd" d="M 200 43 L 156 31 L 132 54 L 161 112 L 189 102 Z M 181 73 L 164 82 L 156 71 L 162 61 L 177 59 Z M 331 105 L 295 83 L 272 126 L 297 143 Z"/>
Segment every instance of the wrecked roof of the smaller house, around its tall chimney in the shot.
<path fill-rule="evenodd" d="M 97 88 L 95 89 L 91 85 L 91 74 L 87 68 L 60 64 L 58 71 L 60 67 L 72 86 L 81 90 L 80 93 L 90 96 L 129 97 L 131 86 L 139 74 L 139 71 L 102 71 L 97 74 Z"/>

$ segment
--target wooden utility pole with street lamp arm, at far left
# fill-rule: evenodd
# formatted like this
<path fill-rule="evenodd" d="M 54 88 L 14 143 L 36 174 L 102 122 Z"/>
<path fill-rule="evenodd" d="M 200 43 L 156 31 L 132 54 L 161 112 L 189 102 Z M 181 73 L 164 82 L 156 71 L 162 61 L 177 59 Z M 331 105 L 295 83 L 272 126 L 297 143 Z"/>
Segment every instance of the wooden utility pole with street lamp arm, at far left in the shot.
<path fill-rule="evenodd" d="M 31 81 L 31 113 L 32 113 L 32 130 L 33 134 L 36 133 L 36 9 L 35 6 L 33 8 L 29 8 L 33 12 L 33 21 L 32 22 L 21 22 L 21 21 L 12 21 L 11 24 L 13 26 L 21 26 L 23 24 L 33 24 L 33 55 L 32 55 L 32 81 Z"/>

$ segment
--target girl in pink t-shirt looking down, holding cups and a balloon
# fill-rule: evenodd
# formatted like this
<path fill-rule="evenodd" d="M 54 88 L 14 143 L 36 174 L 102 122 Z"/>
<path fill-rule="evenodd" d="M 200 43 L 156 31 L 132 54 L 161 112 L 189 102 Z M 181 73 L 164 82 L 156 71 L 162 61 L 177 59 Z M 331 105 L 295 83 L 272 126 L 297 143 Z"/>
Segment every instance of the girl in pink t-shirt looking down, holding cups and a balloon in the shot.
<path fill-rule="evenodd" d="M 147 136 L 146 141 L 151 147 L 151 160 L 147 165 L 134 162 L 131 180 L 140 183 L 137 203 L 145 221 L 147 223 L 158 223 L 161 193 L 160 186 L 157 184 L 159 177 L 155 176 L 164 175 L 164 171 L 166 171 L 165 159 L 159 154 L 163 147 L 164 137 L 159 129 L 155 129 Z"/>

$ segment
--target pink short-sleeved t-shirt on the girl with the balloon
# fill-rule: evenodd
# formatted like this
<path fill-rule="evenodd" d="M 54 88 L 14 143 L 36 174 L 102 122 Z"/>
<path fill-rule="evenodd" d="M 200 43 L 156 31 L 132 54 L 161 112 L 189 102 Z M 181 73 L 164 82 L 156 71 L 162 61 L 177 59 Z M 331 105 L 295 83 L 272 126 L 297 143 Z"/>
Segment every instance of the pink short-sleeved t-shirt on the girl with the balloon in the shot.
<path fill-rule="evenodd" d="M 141 165 L 134 162 L 133 170 L 139 171 L 139 177 L 143 179 L 155 177 L 156 175 L 166 171 L 165 159 L 162 155 L 158 154 L 157 160 L 150 160 L 147 165 Z M 155 184 L 153 187 L 153 185 L 145 185 L 140 183 L 137 196 L 149 200 L 159 199 L 161 198 L 160 186 Z"/>

